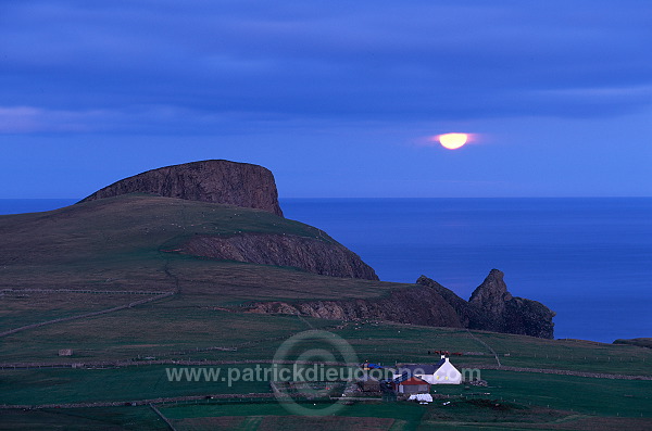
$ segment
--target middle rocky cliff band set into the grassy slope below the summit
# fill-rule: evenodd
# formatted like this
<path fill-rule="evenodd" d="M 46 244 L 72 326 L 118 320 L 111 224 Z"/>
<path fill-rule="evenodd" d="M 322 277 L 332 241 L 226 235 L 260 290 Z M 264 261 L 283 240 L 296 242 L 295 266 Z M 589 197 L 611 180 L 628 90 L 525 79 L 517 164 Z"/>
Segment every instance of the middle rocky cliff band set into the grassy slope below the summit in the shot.
<path fill-rule="evenodd" d="M 378 280 L 360 256 L 337 242 L 293 234 L 196 236 L 181 253 L 261 265 L 291 266 L 331 277 Z"/>

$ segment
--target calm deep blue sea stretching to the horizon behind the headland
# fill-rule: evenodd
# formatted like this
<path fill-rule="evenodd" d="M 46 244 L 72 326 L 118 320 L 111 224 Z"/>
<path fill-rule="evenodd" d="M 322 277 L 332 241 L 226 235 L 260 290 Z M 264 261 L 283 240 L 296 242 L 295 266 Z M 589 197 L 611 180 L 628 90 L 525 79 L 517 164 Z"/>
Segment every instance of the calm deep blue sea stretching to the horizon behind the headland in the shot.
<path fill-rule="evenodd" d="M 0 200 L 0 214 L 77 200 Z M 652 337 L 652 198 L 281 199 L 384 281 L 425 275 L 468 299 L 492 268 L 556 313 L 555 338 Z"/>

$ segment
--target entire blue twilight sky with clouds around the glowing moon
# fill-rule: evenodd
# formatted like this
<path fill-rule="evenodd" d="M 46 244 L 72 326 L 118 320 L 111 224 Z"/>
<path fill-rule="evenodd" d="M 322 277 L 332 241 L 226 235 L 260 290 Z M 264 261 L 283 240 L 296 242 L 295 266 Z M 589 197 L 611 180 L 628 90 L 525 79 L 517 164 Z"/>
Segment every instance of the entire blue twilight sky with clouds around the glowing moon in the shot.
<path fill-rule="evenodd" d="M 1 1 L 0 199 L 204 159 L 281 198 L 650 197 L 650 47 L 647 0 Z"/>

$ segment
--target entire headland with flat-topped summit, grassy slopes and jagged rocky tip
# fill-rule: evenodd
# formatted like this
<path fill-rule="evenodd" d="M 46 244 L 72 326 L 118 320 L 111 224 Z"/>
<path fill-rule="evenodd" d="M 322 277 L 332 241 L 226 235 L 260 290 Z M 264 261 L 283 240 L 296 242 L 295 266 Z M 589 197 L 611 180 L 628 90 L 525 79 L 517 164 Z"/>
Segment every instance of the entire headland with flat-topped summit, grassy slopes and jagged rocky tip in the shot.
<path fill-rule="evenodd" d="M 554 313 L 513 296 L 498 269 L 469 301 L 425 276 L 379 281 L 327 232 L 283 217 L 272 173 L 246 163 L 148 170 L 68 207 L 7 216 L 0 238 L 7 287 L 199 289 L 248 313 L 553 337 Z"/>

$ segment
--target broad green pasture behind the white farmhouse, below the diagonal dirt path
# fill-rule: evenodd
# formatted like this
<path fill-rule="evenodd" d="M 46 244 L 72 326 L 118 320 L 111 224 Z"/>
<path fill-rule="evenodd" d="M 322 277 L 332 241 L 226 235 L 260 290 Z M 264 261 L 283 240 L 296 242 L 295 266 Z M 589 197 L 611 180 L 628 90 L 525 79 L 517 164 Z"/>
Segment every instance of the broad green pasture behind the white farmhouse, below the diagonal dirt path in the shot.
<path fill-rule="evenodd" d="M 126 303 L 133 297 L 120 296 L 115 303 Z M 284 339 L 311 328 L 324 328 L 348 340 L 361 360 L 427 362 L 436 357 L 428 351 L 446 350 L 465 354 L 453 359 L 460 364 L 496 365 L 496 358 L 479 339 L 498 353 L 505 366 L 652 376 L 649 367 L 652 350 L 632 345 L 544 340 L 486 331 L 472 331 L 472 337 L 466 330 L 454 328 L 236 313 L 220 304 L 200 304 L 192 294 L 181 293 L 106 315 L 34 328 L 2 338 L 0 357 L 2 363 L 25 362 L 25 358 L 39 363 L 130 360 L 146 356 L 269 360 Z M 30 310 L 25 308 L 24 319 L 34 320 Z M 11 321 L 4 320 L 3 325 L 9 326 Z M 75 354 L 70 358 L 59 357 L 57 353 L 61 348 L 73 348 Z M 235 351 L 227 351 L 229 348 Z"/>

